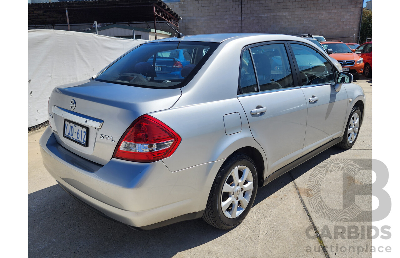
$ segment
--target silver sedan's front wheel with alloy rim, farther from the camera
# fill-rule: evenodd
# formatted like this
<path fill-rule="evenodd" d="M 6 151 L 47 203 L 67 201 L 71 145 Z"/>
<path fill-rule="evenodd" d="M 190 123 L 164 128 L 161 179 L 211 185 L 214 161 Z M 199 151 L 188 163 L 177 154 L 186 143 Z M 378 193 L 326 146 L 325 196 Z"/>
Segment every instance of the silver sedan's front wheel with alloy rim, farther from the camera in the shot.
<path fill-rule="evenodd" d="M 347 126 L 344 132 L 343 140 L 336 144 L 338 148 L 348 150 L 353 147 L 357 140 L 358 133 L 361 126 L 361 111 L 360 108 L 355 106 L 347 121 Z"/>

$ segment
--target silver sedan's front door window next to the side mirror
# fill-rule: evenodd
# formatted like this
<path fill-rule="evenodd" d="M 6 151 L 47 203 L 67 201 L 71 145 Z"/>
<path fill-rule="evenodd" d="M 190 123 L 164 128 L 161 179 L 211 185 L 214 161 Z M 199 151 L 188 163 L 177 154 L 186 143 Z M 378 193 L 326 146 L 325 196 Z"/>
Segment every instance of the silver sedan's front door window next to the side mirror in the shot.
<path fill-rule="evenodd" d="M 291 44 L 300 70 L 302 85 L 335 81 L 332 65 L 316 50 L 300 44 Z"/>

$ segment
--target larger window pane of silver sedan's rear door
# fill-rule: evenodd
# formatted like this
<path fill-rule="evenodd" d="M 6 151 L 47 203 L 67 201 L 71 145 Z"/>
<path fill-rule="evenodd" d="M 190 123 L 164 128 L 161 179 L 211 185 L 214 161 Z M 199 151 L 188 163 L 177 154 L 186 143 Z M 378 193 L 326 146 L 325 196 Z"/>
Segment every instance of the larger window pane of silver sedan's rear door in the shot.
<path fill-rule="evenodd" d="M 292 70 L 284 44 L 251 48 L 260 91 L 293 87 Z"/>

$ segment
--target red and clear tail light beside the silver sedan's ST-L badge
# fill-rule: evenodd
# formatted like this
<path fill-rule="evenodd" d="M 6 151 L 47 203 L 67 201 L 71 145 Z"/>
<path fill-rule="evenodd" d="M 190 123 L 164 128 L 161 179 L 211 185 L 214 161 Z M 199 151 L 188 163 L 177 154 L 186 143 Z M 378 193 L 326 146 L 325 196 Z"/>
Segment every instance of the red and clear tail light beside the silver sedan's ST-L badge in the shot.
<path fill-rule="evenodd" d="M 143 115 L 122 135 L 114 158 L 136 162 L 154 162 L 174 153 L 180 136 L 160 120 Z"/>

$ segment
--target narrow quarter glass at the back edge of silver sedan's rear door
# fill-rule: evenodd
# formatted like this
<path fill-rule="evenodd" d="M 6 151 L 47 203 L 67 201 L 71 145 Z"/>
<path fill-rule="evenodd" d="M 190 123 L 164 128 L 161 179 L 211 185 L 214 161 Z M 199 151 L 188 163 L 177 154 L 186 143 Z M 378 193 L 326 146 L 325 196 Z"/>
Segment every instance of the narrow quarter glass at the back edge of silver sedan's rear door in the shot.
<path fill-rule="evenodd" d="M 248 49 L 242 55 L 239 85 L 243 93 L 258 92 L 256 73 L 254 72 L 253 62 Z"/>

